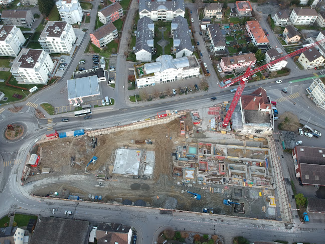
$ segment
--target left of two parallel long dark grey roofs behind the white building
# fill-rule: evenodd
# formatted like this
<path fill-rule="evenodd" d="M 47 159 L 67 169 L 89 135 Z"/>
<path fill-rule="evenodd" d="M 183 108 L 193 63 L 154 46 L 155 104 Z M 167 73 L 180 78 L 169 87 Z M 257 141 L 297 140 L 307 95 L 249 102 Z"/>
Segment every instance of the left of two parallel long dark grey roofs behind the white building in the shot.
<path fill-rule="evenodd" d="M 138 25 L 136 28 L 135 53 L 141 50 L 151 53 L 151 48 L 153 48 L 153 31 L 154 25 L 150 18 L 144 16 L 138 20 Z"/>

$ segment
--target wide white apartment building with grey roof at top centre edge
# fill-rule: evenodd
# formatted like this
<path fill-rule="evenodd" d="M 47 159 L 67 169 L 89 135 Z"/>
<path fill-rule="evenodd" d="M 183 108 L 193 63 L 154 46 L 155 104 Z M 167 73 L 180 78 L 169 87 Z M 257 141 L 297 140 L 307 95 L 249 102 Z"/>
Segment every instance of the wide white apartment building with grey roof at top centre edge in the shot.
<path fill-rule="evenodd" d="M 139 15 L 140 18 L 146 16 L 153 21 L 172 21 L 177 16 L 182 16 L 184 18 L 184 0 L 139 0 Z"/>

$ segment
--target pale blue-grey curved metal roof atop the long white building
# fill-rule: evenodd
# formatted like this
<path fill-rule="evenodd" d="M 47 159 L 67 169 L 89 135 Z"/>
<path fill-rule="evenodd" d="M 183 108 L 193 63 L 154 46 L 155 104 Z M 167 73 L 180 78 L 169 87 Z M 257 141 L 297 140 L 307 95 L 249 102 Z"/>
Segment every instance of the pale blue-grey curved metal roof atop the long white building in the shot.
<path fill-rule="evenodd" d="M 167 69 L 178 69 L 189 67 L 188 57 L 174 58 L 171 55 L 162 55 L 156 58 L 155 62 L 144 64 L 145 72 L 151 74 L 154 72 L 164 72 Z"/>

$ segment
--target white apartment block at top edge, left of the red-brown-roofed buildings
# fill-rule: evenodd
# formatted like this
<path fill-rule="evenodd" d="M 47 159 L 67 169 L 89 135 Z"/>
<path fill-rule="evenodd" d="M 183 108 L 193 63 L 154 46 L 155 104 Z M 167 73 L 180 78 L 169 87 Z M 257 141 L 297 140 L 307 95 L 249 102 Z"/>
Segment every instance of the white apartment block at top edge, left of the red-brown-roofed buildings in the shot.
<path fill-rule="evenodd" d="M 56 2 L 62 21 L 75 24 L 82 20 L 82 9 L 78 0 L 58 0 Z"/>

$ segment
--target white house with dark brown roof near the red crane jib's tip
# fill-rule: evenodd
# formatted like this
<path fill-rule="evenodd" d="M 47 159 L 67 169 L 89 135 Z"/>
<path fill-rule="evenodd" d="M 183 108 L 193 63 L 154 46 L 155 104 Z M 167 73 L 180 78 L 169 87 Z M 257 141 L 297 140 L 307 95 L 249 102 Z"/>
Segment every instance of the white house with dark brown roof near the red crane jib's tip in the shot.
<path fill-rule="evenodd" d="M 304 69 L 313 69 L 319 67 L 323 63 L 324 58 L 315 47 L 312 47 L 302 52 L 298 61 Z"/>

